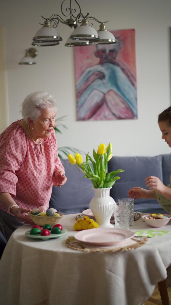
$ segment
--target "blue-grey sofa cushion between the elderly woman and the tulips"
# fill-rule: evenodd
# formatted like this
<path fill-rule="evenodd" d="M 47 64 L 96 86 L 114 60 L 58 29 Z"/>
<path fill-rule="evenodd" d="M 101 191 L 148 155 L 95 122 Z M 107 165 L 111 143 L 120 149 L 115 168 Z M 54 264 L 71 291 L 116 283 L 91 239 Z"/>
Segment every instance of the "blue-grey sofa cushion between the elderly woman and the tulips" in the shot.
<path fill-rule="evenodd" d="M 82 178 L 82 171 L 68 160 L 61 162 L 65 168 L 67 182 L 61 188 L 53 186 L 49 207 L 64 214 L 81 213 L 89 209 L 89 203 L 94 197 L 92 182 L 88 178 Z"/>

